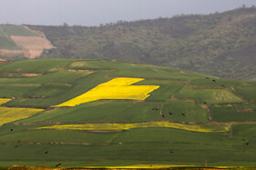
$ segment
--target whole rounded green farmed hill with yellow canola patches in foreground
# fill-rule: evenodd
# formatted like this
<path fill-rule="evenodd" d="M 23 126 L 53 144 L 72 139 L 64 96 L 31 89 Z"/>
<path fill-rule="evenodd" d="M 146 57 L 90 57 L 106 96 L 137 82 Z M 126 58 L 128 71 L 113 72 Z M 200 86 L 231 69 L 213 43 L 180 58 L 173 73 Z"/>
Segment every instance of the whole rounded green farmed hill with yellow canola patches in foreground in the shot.
<path fill-rule="evenodd" d="M 254 81 L 43 59 L 0 65 L 0 82 L 3 167 L 256 166 Z"/>

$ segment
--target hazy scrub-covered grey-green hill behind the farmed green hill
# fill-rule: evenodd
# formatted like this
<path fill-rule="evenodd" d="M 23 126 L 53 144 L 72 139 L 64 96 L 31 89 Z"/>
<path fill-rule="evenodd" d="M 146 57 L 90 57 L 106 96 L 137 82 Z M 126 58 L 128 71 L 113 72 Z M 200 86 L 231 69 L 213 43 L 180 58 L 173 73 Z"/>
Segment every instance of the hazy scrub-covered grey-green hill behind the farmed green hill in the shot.
<path fill-rule="evenodd" d="M 120 59 L 217 75 L 256 75 L 256 8 L 92 26 L 28 25 L 56 49 L 40 58 Z"/>

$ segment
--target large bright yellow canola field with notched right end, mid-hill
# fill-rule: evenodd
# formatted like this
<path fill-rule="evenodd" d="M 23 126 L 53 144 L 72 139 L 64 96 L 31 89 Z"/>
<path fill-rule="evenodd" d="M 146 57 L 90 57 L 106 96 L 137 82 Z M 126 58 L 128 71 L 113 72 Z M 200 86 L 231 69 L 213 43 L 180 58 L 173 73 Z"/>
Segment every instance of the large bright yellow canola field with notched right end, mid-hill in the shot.
<path fill-rule="evenodd" d="M 76 106 L 100 99 L 144 100 L 149 96 L 148 94 L 157 89 L 159 85 L 132 85 L 142 80 L 144 80 L 144 78 L 114 78 L 109 82 L 97 85 L 83 95 L 79 95 L 56 106 Z"/>

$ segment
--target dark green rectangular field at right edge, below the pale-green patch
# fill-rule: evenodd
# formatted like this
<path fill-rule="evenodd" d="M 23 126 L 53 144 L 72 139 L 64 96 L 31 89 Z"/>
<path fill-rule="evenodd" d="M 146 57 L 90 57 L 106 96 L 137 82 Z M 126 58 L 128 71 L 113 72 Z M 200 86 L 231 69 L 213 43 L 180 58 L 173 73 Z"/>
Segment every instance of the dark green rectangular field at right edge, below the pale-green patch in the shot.
<path fill-rule="evenodd" d="M 209 106 L 213 121 L 218 122 L 245 122 L 256 121 L 256 111 L 239 112 L 234 106 Z"/>

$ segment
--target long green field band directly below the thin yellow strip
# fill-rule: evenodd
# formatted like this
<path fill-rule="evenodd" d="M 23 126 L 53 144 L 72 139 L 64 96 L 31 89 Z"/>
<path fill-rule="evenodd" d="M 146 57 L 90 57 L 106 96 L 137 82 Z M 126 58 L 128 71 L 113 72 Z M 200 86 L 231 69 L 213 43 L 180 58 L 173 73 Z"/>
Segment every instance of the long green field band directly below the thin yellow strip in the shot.
<path fill-rule="evenodd" d="M 201 133 L 176 128 L 137 128 L 121 132 L 90 132 L 81 130 L 32 130 L 42 125 L 15 125 L 15 131 L 3 129 L 0 144 L 29 145 L 28 143 L 127 144 L 127 143 L 184 143 L 195 145 L 242 145 L 241 140 L 229 140 L 225 133 Z M 30 130 L 27 130 L 30 129 Z M 186 141 L 184 135 L 187 136 Z M 20 142 L 18 142 L 20 141 Z M 11 145 L 11 144 L 10 144 Z M 31 144 L 36 145 L 36 144 Z"/>

